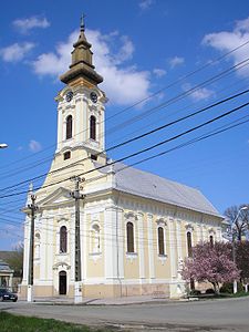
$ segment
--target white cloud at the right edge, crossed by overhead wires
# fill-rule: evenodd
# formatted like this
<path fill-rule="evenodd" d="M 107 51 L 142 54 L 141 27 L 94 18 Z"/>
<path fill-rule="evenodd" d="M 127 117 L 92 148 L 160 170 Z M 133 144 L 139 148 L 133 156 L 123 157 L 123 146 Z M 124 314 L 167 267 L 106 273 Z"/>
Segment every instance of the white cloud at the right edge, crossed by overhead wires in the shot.
<path fill-rule="evenodd" d="M 203 39 L 203 44 L 211 46 L 221 52 L 230 52 L 235 48 L 248 42 L 249 40 L 249 18 L 246 20 L 237 21 L 232 31 L 221 31 L 206 34 Z M 235 52 L 230 53 L 235 64 L 246 60 L 249 54 L 249 44 L 241 46 Z M 237 71 L 242 76 L 248 76 L 249 65 L 243 66 Z"/>

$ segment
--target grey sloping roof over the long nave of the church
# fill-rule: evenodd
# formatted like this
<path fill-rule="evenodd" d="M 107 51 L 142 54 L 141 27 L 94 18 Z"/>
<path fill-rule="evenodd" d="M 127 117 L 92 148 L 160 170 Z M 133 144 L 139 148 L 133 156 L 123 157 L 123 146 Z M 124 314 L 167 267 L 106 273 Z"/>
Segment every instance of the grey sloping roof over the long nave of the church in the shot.
<path fill-rule="evenodd" d="M 121 163 L 105 167 L 101 172 L 115 173 L 115 189 L 117 190 L 222 218 L 211 203 L 196 188 L 134 167 L 127 167 Z"/>

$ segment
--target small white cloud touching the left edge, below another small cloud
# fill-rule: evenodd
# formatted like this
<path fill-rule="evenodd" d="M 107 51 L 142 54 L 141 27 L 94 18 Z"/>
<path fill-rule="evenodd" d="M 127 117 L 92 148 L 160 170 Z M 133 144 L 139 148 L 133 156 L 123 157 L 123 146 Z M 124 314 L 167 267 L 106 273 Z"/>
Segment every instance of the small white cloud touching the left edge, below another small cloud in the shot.
<path fill-rule="evenodd" d="M 0 49 L 0 56 L 6 62 L 18 62 L 21 61 L 32 49 L 33 43 L 14 43 L 7 48 Z"/>

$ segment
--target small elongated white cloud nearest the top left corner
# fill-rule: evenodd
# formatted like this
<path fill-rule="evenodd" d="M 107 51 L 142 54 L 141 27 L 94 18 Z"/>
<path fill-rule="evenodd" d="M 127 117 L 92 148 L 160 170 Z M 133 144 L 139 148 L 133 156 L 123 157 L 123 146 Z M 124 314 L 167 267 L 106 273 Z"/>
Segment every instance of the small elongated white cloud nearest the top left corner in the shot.
<path fill-rule="evenodd" d="M 50 27 L 50 22 L 46 18 L 31 17 L 28 19 L 18 19 L 12 22 L 13 27 L 20 33 L 28 33 L 30 30 L 34 28 L 45 29 Z"/>

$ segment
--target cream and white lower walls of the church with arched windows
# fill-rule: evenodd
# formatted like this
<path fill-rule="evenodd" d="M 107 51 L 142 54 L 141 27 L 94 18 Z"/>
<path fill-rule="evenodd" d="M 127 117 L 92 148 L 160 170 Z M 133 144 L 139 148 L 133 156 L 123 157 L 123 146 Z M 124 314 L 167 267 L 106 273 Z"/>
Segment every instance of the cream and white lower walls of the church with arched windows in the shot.
<path fill-rule="evenodd" d="M 110 195 L 81 207 L 82 294 L 118 297 L 183 294 L 180 268 L 191 245 L 221 240 L 220 219 L 131 195 Z M 133 243 L 127 225 L 133 228 Z M 23 286 L 28 283 L 29 218 L 25 224 Z M 60 230 L 66 227 L 66 250 Z M 159 232 L 163 247 L 159 245 Z M 66 295 L 74 294 L 74 206 L 38 214 L 34 238 L 37 297 L 59 295 L 61 272 L 66 273 Z M 22 293 L 25 291 L 22 289 Z"/>

